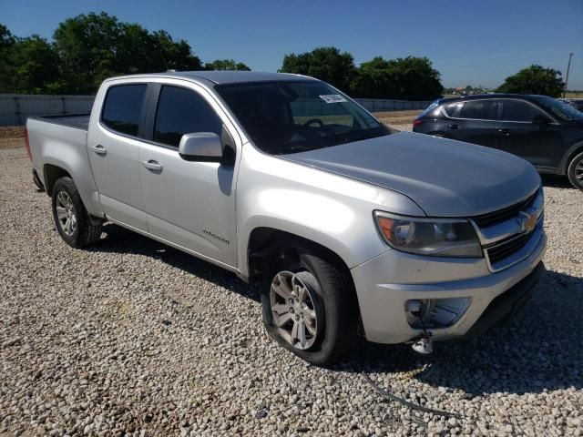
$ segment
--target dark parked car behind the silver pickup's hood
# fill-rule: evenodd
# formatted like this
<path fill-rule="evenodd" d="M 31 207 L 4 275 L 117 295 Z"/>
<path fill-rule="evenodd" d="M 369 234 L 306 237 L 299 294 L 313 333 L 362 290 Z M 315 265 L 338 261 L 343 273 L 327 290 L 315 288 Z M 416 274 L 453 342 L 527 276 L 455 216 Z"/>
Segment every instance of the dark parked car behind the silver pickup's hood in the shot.
<path fill-rule="evenodd" d="M 583 189 L 583 113 L 555 98 L 440 98 L 414 120 L 413 130 L 505 150 Z"/>

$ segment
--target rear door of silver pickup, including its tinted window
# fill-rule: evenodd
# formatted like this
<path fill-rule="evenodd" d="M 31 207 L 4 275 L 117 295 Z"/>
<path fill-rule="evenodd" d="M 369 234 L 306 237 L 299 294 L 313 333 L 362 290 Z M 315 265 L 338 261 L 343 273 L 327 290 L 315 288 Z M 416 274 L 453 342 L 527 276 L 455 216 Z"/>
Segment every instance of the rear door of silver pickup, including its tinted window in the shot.
<path fill-rule="evenodd" d="M 139 181 L 139 130 L 148 85 L 124 82 L 100 90 L 101 114 L 92 117 L 87 137 L 91 171 L 99 200 L 110 219 L 146 230 Z M 96 105 L 97 107 L 97 105 Z"/>

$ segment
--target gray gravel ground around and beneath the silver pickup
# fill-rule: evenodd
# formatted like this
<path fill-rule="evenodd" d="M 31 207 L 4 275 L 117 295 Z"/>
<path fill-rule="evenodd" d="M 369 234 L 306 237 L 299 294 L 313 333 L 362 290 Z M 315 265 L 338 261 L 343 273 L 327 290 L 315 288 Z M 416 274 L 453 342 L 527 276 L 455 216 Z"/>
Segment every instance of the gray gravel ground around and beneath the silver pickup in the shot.
<path fill-rule="evenodd" d="M 0 435 L 581 435 L 583 193 L 546 179 L 547 276 L 479 340 L 282 351 L 255 288 L 113 225 L 68 248 L 25 151 L 0 150 Z M 394 394 L 463 417 L 385 401 Z"/>

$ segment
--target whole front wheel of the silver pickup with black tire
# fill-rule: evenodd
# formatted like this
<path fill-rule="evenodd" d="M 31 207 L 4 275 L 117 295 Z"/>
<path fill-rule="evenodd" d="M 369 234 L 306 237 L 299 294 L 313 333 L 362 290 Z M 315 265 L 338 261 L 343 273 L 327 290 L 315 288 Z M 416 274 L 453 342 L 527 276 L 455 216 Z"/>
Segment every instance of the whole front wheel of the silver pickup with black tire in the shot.
<path fill-rule="evenodd" d="M 290 275 L 292 278 L 290 279 Z M 281 291 L 282 282 L 296 281 L 296 284 L 304 285 L 310 302 L 285 303 L 282 305 L 283 296 L 275 291 Z M 273 289 L 273 290 L 272 290 Z M 283 293 L 285 294 L 285 293 Z M 302 295 L 302 292 L 296 295 Z M 304 292 L 304 297 L 306 293 Z M 275 301 L 274 301 L 275 296 Z M 296 296 L 299 297 L 299 296 Z M 358 303 L 353 291 L 352 281 L 343 274 L 332 262 L 322 259 L 307 250 L 300 250 L 298 259 L 280 259 L 273 263 L 266 274 L 263 275 L 261 285 L 261 305 L 263 310 L 263 323 L 271 338 L 276 340 L 288 351 L 292 351 L 304 361 L 316 366 L 330 366 L 346 357 L 357 341 Z M 278 311 L 273 310 L 273 305 L 281 305 Z M 283 307 L 288 306 L 288 310 Z M 302 308 L 301 308 L 302 307 Z M 293 309 L 296 310 L 293 310 Z M 300 308 L 300 310 L 297 310 Z M 293 311 L 292 311 L 293 310 Z M 287 315 L 286 315 L 287 312 Z M 314 313 L 316 322 L 312 323 L 310 313 Z M 301 316 L 299 316 L 301 314 Z M 278 321 L 293 319 L 278 326 Z M 306 333 L 305 344 L 297 338 L 293 339 L 293 326 L 299 323 L 300 328 Z M 315 330 L 315 335 L 308 325 Z M 293 343 L 290 341 L 293 340 Z"/>

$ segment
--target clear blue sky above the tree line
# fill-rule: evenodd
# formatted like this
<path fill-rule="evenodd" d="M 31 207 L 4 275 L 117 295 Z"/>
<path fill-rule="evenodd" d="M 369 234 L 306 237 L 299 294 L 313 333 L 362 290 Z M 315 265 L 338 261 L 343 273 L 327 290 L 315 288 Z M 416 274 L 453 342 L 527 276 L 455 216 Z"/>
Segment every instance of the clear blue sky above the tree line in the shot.
<path fill-rule="evenodd" d="M 276 71 L 284 55 L 336 46 L 358 65 L 427 56 L 450 86 L 499 86 L 531 64 L 567 71 L 583 89 L 583 0 L 194 1 L 0 0 L 15 36 L 50 39 L 68 17 L 106 11 L 185 39 L 203 62 L 232 58 Z"/>

